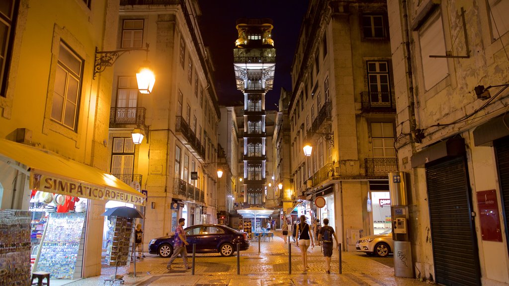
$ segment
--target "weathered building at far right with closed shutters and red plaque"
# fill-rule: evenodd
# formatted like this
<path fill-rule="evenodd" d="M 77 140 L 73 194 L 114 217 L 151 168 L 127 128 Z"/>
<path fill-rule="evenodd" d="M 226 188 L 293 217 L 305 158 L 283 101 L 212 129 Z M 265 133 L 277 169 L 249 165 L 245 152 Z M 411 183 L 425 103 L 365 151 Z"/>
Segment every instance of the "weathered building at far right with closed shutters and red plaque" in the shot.
<path fill-rule="evenodd" d="M 388 1 L 415 277 L 507 285 L 507 1 Z"/>

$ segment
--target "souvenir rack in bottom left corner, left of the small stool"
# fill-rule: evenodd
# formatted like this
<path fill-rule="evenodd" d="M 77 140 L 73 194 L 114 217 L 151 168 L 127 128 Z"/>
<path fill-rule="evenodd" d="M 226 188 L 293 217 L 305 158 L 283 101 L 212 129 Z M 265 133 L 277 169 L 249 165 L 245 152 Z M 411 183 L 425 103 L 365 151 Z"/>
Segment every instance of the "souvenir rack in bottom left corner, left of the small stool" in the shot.
<path fill-rule="evenodd" d="M 30 284 L 31 213 L 0 210 L 0 285 Z"/>

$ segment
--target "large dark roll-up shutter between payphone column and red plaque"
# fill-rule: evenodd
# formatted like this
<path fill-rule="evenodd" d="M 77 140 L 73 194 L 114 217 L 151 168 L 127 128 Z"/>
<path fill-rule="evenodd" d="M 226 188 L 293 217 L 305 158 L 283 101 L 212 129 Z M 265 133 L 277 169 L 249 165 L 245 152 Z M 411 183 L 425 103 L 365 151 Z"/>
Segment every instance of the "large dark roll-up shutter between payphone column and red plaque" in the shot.
<path fill-rule="evenodd" d="M 426 180 L 436 282 L 480 285 L 465 157 L 426 164 Z"/>

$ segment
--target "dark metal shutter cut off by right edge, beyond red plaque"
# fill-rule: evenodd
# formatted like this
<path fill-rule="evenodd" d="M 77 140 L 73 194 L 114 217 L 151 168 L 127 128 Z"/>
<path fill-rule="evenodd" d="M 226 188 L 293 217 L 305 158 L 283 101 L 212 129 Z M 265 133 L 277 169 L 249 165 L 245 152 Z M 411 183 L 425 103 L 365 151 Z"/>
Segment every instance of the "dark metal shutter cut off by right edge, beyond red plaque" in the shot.
<path fill-rule="evenodd" d="M 494 142 L 495 154 L 497 156 L 498 178 L 500 182 L 500 193 L 502 195 L 502 216 L 505 223 L 505 237 L 509 237 L 509 137 L 504 137 Z M 507 249 L 509 241 L 505 239 Z"/>

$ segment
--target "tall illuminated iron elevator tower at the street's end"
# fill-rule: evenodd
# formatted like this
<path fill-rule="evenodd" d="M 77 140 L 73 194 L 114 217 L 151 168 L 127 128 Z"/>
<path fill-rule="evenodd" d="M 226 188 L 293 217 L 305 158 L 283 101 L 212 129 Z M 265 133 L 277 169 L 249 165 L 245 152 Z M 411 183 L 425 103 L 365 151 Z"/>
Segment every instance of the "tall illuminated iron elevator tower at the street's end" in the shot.
<path fill-rule="evenodd" d="M 237 20 L 238 39 L 234 49 L 237 89 L 244 95 L 243 197 L 244 206 L 265 206 L 267 131 L 265 94 L 272 89 L 275 48 L 271 39 L 272 20 Z"/>

